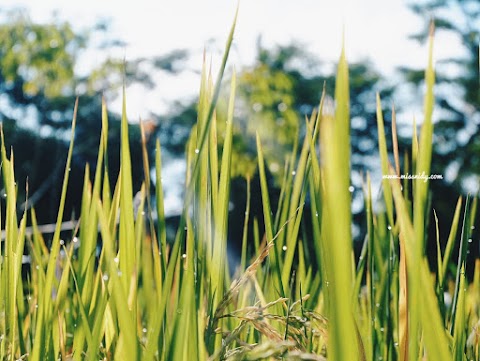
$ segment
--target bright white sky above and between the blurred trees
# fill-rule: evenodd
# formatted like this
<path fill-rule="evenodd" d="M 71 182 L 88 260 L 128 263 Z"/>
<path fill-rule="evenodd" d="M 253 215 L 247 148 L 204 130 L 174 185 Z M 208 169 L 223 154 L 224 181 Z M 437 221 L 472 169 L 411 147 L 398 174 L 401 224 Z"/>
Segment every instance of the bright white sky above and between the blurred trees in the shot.
<path fill-rule="evenodd" d="M 108 19 L 112 34 L 127 44 L 120 56 L 128 60 L 161 55 L 173 49 L 193 49 L 198 55 L 189 67 L 198 71 L 204 48 L 214 68 L 220 63 L 237 8 L 236 0 L 2 0 L 2 3 L 4 7 L 25 7 L 34 21 L 48 21 L 56 11 L 60 19 L 69 20 L 78 29 Z M 421 67 L 426 63 L 425 46 L 407 39 L 408 34 L 421 26 L 420 19 L 402 0 L 240 0 L 229 64 L 239 69 L 251 63 L 259 35 L 266 46 L 294 42 L 333 64 L 345 33 L 348 59 L 370 59 L 388 76 L 398 65 Z M 441 56 L 442 48 L 437 52 Z M 100 63 L 103 56 L 89 57 L 88 66 Z M 195 96 L 199 84 L 195 72 L 178 77 L 164 75 L 156 80 L 155 91 L 148 95 L 138 86 L 127 89 L 129 118 L 148 118 L 150 112 L 166 112 L 169 104 L 179 97 Z M 120 107 L 117 103 L 113 106 Z"/>

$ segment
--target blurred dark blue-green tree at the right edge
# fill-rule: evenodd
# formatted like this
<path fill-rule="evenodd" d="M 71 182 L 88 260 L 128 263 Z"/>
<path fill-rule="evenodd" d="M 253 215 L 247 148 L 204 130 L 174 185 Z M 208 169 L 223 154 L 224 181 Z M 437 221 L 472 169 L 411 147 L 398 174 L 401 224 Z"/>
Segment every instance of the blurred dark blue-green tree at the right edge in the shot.
<path fill-rule="evenodd" d="M 448 58 L 436 64 L 436 114 L 432 173 L 442 174 L 444 181 L 430 183 L 433 206 L 439 224 L 450 224 L 460 194 L 478 194 L 480 190 L 480 2 L 477 0 L 424 0 L 410 4 L 412 11 L 424 21 L 421 31 L 411 37 L 424 42 L 434 21 L 437 43 L 447 39 L 454 47 Z M 438 45 L 437 45 L 438 46 Z M 400 69 L 405 79 L 423 85 L 423 70 Z M 405 142 L 405 140 L 404 140 Z M 407 141 L 408 143 L 408 141 Z M 435 220 L 430 220 L 430 239 L 435 240 Z M 449 229 L 440 228 L 445 242 Z M 430 252 L 436 254 L 435 242 Z M 472 248 L 469 262 L 479 257 Z M 471 263 L 470 263 L 471 264 Z M 470 274 L 473 267 L 468 268 Z"/>

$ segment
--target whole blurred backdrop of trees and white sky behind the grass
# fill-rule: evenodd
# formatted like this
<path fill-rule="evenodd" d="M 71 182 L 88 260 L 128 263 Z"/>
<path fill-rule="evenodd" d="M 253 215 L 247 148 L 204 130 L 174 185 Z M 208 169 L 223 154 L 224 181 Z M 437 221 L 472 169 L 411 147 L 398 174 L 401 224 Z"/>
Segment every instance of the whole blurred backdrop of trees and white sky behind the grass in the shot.
<path fill-rule="evenodd" d="M 15 153 L 23 195 L 19 199 L 26 199 L 28 179 L 26 206 L 35 207 L 39 223 L 56 219 L 76 97 L 79 116 L 66 219 L 78 218 L 85 165 L 95 165 L 102 96 L 109 109 L 113 184 L 125 83 L 135 189 L 143 177 L 138 129 L 142 119 L 152 153 L 156 139 L 162 144 L 166 214 L 174 227 L 181 211 L 184 150 L 196 121 L 204 54 L 215 75 L 236 7 L 236 1 L 224 0 L 2 1 L 0 121 Z M 431 202 L 439 224 L 449 225 L 458 196 L 476 195 L 480 184 L 480 3 L 240 2 L 227 74 L 228 78 L 235 67 L 239 80 L 233 240 L 240 238 L 243 226 L 246 179 L 252 180 L 253 214 L 261 214 L 255 132 L 265 147 L 275 204 L 285 156 L 304 134 L 305 117 L 316 109 L 324 84 L 327 94 L 333 95 L 343 34 L 351 81 L 353 232 L 356 240 L 363 240 L 362 182 L 366 172 L 372 174 L 377 190 L 381 181 L 375 94 L 382 97 L 387 132 L 395 106 L 401 155 L 409 154 L 413 120 L 420 125 L 423 117 L 423 69 L 432 19 L 437 71 L 432 173 L 443 175 L 443 180 L 431 181 Z M 221 99 L 219 119 L 224 103 Z M 433 218 L 431 225 L 433 230 Z M 442 242 L 448 232 L 449 228 L 440 228 Z M 470 257 L 478 257 L 478 234 L 474 236 Z"/>

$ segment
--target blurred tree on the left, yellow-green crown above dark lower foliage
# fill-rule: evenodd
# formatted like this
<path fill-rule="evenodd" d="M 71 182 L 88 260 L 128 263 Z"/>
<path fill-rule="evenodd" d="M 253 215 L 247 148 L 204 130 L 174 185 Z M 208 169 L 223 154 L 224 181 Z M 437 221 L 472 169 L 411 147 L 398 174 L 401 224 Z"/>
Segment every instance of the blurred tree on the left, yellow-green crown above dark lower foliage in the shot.
<path fill-rule="evenodd" d="M 86 163 L 94 166 L 101 129 L 101 93 L 112 100 L 110 89 L 124 83 L 153 87 L 150 70 L 179 71 L 178 62 L 188 55 L 176 51 L 153 59 L 108 58 L 82 75 L 82 57 L 92 51 L 124 44 L 111 39 L 108 24 L 76 31 L 71 24 L 53 18 L 35 23 L 25 11 L 0 11 L 0 121 L 7 146 L 15 151 L 19 199 L 25 199 L 29 181 L 29 205 L 40 222 L 56 219 L 68 136 L 75 98 L 79 96 L 76 147 L 73 158 L 67 213 L 80 204 Z M 109 155 L 111 181 L 118 172 L 119 116 L 110 113 Z M 131 141 L 135 188 L 143 173 L 138 126 L 132 126 Z"/>

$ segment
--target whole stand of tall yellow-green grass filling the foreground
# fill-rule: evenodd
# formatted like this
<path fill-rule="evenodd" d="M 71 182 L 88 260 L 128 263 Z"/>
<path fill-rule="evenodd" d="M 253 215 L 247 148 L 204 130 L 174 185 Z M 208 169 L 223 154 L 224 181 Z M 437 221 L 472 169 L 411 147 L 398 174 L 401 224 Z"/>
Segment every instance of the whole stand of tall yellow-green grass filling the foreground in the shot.
<path fill-rule="evenodd" d="M 228 223 L 238 221 L 228 217 L 234 73 L 226 119 L 217 116 L 216 109 L 234 26 L 216 80 L 207 65 L 203 69 L 198 122 L 186 150 L 185 203 L 171 243 L 167 242 L 163 210 L 161 145 L 157 141 L 153 202 L 143 129 L 145 180 L 140 189 L 132 186 L 125 96 L 116 186 L 109 186 L 108 119 L 103 103 L 96 169 L 85 168 L 81 216 L 66 241 L 60 238 L 61 222 L 78 105 L 51 239 L 45 240 L 40 233 L 34 210 L 17 212 L 14 153 L 8 154 L 2 135 L 6 214 L 0 247 L 0 359 L 480 359 L 479 260 L 473 280 L 465 277 L 476 197 L 465 202 L 459 199 L 451 225 L 437 224 L 450 228 L 442 249 L 438 237 L 429 240 L 425 232 L 431 213 L 428 182 L 401 184 L 397 179 L 384 179 L 381 200 L 385 207 L 375 210 L 375 192 L 366 175 L 367 233 L 360 256 L 353 253 L 349 80 L 344 50 L 335 100 L 329 100 L 324 90 L 318 111 L 306 119 L 304 139 L 285 160 L 276 209 L 270 203 L 262 139 L 257 136 L 265 227 L 260 229 L 256 219 L 248 222 L 250 194 L 246 194 L 242 260 L 231 277 Z M 395 164 L 390 164 L 380 96 L 376 99 L 378 164 L 384 174 L 429 172 L 432 45 L 425 78 L 420 140 L 414 132 L 412 155 L 405 157 L 403 167 L 394 119 L 390 152 Z M 217 140 L 220 121 L 226 121 L 222 144 Z M 134 199 L 138 209 L 133 207 Z M 307 218 L 311 235 L 302 232 Z M 28 219 L 31 234 L 26 232 Z M 433 269 L 424 251 L 427 241 L 438 245 Z M 250 257 L 247 250 L 252 248 Z M 451 259 L 454 249 L 459 249 L 457 261 Z M 26 253 L 30 262 L 22 264 Z M 451 265 L 456 272 L 450 271 Z M 452 296 L 452 304 L 444 302 L 444 292 Z"/>

